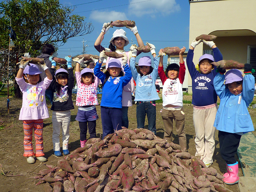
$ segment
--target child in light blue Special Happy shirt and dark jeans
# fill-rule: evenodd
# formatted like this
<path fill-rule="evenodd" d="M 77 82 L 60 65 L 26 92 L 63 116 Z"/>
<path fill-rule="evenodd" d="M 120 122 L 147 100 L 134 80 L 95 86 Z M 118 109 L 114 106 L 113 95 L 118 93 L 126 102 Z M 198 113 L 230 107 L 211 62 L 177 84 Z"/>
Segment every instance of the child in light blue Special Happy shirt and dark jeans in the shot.
<path fill-rule="evenodd" d="M 139 60 L 138 70 L 135 68 L 137 50 L 135 45 L 131 46 L 132 58 L 130 68 L 132 77 L 136 82 L 136 93 L 134 101 L 136 105 L 137 128 L 144 128 L 145 117 L 148 117 L 148 129 L 156 134 L 156 100 L 159 100 L 156 92 L 156 78 L 158 76 L 159 59 L 156 56 L 156 47 L 153 44 L 147 43 L 150 46 L 150 52 L 154 59 L 154 68 L 151 66 L 151 58 L 149 56 L 141 57 Z"/>

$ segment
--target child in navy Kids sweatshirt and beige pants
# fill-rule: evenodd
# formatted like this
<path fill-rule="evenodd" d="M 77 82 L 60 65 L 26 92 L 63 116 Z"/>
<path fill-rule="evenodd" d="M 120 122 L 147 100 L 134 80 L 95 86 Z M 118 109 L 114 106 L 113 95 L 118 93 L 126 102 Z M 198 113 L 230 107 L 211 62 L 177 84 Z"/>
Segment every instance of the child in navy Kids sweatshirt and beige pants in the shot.
<path fill-rule="evenodd" d="M 213 56 L 204 54 L 199 58 L 199 71 L 193 63 L 194 49 L 202 40 L 194 40 L 188 50 L 187 66 L 192 79 L 193 122 L 196 132 L 196 156 L 201 156 L 206 167 L 212 165 L 215 148 L 215 127 L 213 126 L 217 112 L 217 94 L 213 88 L 213 79 L 217 75 L 216 67 L 211 63 L 222 60 L 222 54 L 213 41 L 204 44 L 212 48 Z M 213 70 L 212 70 L 213 69 Z"/>

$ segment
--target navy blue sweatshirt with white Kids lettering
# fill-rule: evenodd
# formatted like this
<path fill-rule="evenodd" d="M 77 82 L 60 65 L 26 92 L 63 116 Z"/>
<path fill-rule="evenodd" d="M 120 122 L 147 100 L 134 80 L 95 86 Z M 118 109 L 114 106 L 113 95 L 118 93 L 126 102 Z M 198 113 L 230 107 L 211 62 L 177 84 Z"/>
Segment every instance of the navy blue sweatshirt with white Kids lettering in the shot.
<path fill-rule="evenodd" d="M 215 62 L 222 60 L 222 54 L 218 47 L 212 50 Z M 194 50 L 189 49 L 186 61 L 189 74 L 192 78 L 192 104 L 197 107 L 215 104 L 217 102 L 217 94 L 213 87 L 213 79 L 217 75 L 216 67 L 214 66 L 211 73 L 199 73 L 193 63 L 193 57 Z"/>

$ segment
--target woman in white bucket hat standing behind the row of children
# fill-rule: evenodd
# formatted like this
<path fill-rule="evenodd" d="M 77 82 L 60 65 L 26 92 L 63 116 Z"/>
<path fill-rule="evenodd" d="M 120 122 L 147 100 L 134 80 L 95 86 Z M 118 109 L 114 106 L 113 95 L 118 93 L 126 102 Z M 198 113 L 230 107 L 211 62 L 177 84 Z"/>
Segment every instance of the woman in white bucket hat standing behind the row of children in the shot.
<path fill-rule="evenodd" d="M 98 36 L 98 38 L 96 39 L 95 43 L 94 43 L 94 47 L 97 51 L 101 52 L 103 50 L 105 50 L 106 52 L 117 52 L 120 54 L 126 53 L 127 57 L 128 57 L 128 65 L 130 66 L 130 59 L 132 57 L 132 52 L 129 50 L 128 52 L 125 52 L 124 50 L 124 46 L 129 44 L 129 40 L 126 37 L 126 32 L 124 31 L 124 29 L 116 29 L 116 31 L 113 33 L 112 38 L 110 39 L 109 43 L 110 45 L 108 46 L 108 48 L 104 48 L 100 45 L 101 43 L 101 39 L 102 37 L 104 37 L 104 34 L 108 31 L 109 28 L 111 28 L 113 26 L 110 25 L 110 23 L 104 23 L 102 30 L 100 32 L 100 35 Z M 138 33 L 138 29 L 136 26 L 134 27 L 126 27 L 129 28 L 133 34 L 135 35 L 137 42 L 138 42 L 138 46 L 144 46 L 142 39 L 140 38 L 140 35 Z M 140 54 L 140 52 L 137 53 L 137 55 Z M 109 61 L 109 57 L 106 56 L 106 69 L 108 68 L 108 61 Z M 119 59 L 120 61 L 122 61 L 122 58 Z M 122 71 L 124 72 L 124 69 L 122 67 Z M 130 81 L 130 83 L 128 83 L 126 86 L 124 86 L 123 88 L 123 93 L 122 93 L 122 113 L 123 113 L 123 121 L 122 121 L 122 126 L 128 128 L 129 126 L 129 121 L 128 121 L 128 107 L 132 106 L 132 92 L 134 92 L 134 82 L 133 82 L 133 78 Z"/>

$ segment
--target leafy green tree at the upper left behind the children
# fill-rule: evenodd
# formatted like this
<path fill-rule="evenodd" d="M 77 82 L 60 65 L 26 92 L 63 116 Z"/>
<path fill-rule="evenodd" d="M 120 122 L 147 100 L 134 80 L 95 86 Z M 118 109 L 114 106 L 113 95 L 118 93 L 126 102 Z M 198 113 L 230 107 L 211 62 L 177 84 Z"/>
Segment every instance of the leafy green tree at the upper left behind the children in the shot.
<path fill-rule="evenodd" d="M 40 54 L 45 43 L 61 46 L 74 36 L 93 31 L 91 22 L 73 14 L 75 7 L 60 4 L 59 0 L 7 0 L 0 3 L 0 80 L 7 80 L 10 20 L 17 34 L 15 47 L 10 51 L 9 73 L 14 80 L 16 63 L 25 52 L 31 57 Z"/>

